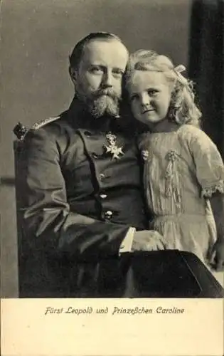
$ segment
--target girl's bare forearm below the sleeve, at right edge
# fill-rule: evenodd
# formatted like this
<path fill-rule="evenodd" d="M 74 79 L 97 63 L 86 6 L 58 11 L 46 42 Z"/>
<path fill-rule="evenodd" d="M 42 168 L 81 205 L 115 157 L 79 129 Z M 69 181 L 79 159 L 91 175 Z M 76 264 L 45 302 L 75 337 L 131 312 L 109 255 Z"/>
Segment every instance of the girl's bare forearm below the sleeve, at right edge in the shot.
<path fill-rule="evenodd" d="M 210 197 L 218 239 L 213 247 L 213 261 L 217 271 L 224 270 L 224 194 L 216 192 Z M 211 261 L 211 262 L 213 262 Z"/>

